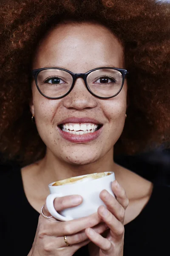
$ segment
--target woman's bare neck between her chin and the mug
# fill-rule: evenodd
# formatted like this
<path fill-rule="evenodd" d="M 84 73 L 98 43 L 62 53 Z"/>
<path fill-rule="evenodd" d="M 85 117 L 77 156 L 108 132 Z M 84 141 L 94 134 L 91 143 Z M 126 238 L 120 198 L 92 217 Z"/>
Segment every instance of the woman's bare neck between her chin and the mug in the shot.
<path fill-rule="evenodd" d="M 47 183 L 96 172 L 115 172 L 116 175 L 119 168 L 113 161 L 113 149 L 96 162 L 85 165 L 64 162 L 47 150 L 45 157 L 40 160 L 38 166 L 39 174 L 43 175 Z"/>

